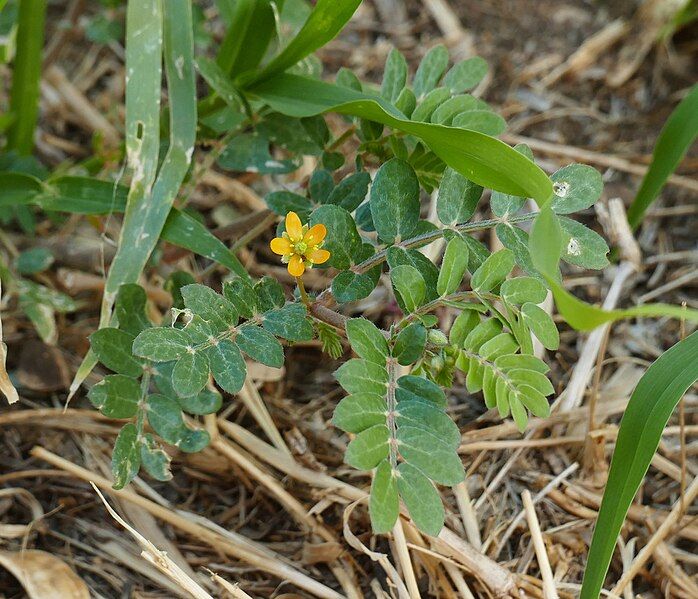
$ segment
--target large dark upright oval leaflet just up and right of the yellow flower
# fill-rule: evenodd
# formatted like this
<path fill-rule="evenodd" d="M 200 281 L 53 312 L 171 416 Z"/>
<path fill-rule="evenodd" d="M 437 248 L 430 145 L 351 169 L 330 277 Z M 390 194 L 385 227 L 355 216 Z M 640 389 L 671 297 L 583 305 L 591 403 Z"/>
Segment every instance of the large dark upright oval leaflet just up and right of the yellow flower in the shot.
<path fill-rule="evenodd" d="M 378 169 L 370 193 L 371 216 L 386 243 L 410 237 L 419 222 L 419 180 L 409 163 L 399 158 Z"/>

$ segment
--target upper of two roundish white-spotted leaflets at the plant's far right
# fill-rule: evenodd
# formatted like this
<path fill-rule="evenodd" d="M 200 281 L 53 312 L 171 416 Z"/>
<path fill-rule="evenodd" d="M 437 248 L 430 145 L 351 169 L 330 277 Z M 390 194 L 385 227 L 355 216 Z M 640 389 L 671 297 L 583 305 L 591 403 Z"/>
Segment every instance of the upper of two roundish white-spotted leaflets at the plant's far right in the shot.
<path fill-rule="evenodd" d="M 586 164 L 569 164 L 555 171 L 550 207 L 557 214 L 579 212 L 592 206 L 601 197 L 601 173 Z"/>

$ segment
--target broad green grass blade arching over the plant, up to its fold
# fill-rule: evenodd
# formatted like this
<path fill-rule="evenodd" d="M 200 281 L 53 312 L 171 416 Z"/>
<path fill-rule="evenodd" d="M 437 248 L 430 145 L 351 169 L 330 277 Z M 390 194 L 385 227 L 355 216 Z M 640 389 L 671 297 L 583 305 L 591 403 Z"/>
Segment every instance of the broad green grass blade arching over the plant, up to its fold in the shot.
<path fill-rule="evenodd" d="M 277 75 L 246 91 L 289 116 L 338 112 L 383 123 L 420 137 L 448 166 L 478 185 L 531 197 L 539 204 L 552 197 L 548 176 L 505 143 L 476 131 L 410 121 L 379 96 L 290 74 Z"/>

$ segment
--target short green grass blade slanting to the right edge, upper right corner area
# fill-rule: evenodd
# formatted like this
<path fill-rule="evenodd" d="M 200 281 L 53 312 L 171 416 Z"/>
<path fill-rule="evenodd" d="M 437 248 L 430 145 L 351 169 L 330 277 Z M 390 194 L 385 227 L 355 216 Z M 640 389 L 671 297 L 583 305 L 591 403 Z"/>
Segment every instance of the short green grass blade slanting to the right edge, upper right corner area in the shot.
<path fill-rule="evenodd" d="M 657 198 L 669 176 L 676 170 L 698 136 L 698 84 L 669 115 L 659 133 L 652 162 L 635 200 L 628 209 L 628 222 L 635 229 Z"/>

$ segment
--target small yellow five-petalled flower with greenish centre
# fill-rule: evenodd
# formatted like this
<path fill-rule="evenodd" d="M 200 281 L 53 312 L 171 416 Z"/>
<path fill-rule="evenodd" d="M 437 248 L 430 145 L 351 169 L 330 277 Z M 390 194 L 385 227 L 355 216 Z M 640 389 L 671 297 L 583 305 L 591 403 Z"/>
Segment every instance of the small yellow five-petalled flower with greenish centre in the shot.
<path fill-rule="evenodd" d="M 306 268 L 330 259 L 330 253 L 320 249 L 325 235 L 325 225 L 317 224 L 308 228 L 308 225 L 301 224 L 301 219 L 295 212 L 289 212 L 286 215 L 286 231 L 281 237 L 272 239 L 269 247 L 281 256 L 284 264 L 288 264 L 288 272 L 292 276 L 300 277 Z"/>

